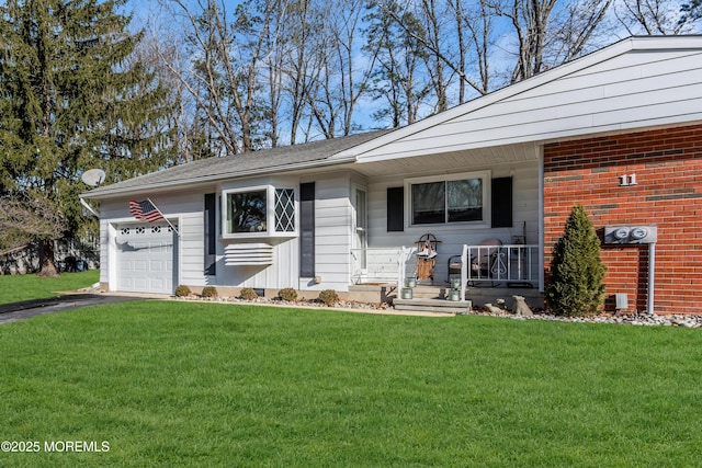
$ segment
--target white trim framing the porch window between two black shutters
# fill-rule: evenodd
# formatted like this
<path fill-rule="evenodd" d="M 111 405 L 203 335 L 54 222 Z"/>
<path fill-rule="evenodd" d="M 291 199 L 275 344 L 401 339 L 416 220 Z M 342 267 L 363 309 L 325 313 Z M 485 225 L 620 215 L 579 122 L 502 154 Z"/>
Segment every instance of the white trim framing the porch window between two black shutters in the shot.
<path fill-rule="evenodd" d="M 483 181 L 483 219 L 479 221 L 456 221 L 456 222 L 434 222 L 434 224 L 412 224 L 412 192 L 411 186 L 414 184 L 431 183 L 431 182 L 450 182 L 462 181 L 468 179 L 480 179 Z M 457 174 L 440 174 L 428 175 L 423 178 L 408 178 L 405 179 L 405 229 L 427 229 L 428 227 L 463 227 L 466 229 L 473 228 L 489 228 L 491 225 L 491 180 L 492 171 L 472 171 L 461 172 Z M 444 207 L 445 209 L 445 207 Z M 445 214 L 445 212 L 444 212 Z"/>

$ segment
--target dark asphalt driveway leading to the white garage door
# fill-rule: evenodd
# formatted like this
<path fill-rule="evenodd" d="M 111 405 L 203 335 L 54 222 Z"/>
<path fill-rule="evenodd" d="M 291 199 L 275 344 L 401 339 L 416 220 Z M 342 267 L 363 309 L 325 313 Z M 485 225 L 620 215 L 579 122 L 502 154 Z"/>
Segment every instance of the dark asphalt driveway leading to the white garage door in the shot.
<path fill-rule="evenodd" d="M 0 304 L 0 324 L 29 319 L 45 313 L 75 310 L 81 307 L 100 306 L 103 304 L 145 300 L 136 296 L 112 296 L 103 294 L 68 294 L 48 299 L 23 300 L 21 303 Z"/>

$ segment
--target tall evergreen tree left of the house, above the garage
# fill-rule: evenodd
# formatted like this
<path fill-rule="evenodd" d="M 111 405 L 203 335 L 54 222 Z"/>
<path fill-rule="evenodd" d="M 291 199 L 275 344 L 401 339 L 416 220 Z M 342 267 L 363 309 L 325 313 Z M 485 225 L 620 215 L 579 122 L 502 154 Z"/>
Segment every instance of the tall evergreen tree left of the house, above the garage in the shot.
<path fill-rule="evenodd" d="M 174 160 L 165 92 L 141 62 L 125 0 L 8 0 L 0 5 L 0 190 L 41 199 L 80 231 L 80 175 L 106 182 Z M 27 232 L 27 238 L 33 235 Z M 54 236 L 42 272 L 56 274 Z"/>

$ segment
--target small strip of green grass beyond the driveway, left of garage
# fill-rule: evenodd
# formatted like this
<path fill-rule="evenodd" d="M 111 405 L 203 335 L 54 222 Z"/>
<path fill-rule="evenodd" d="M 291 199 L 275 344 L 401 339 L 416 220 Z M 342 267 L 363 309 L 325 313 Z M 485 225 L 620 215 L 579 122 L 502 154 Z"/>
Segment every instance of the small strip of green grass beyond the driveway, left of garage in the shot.
<path fill-rule="evenodd" d="M 0 275 L 0 304 L 19 300 L 44 299 L 58 293 L 88 287 L 100 279 L 98 270 L 80 273 L 61 273 L 57 278 L 36 275 Z"/>

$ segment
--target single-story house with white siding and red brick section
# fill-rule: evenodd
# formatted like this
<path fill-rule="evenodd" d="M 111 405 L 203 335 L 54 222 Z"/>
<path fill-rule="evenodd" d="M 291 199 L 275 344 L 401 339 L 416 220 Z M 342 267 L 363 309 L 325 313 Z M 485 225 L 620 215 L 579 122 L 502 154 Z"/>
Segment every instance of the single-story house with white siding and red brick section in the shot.
<path fill-rule="evenodd" d="M 347 292 L 411 272 L 403 247 L 429 233 L 434 283 L 461 273 L 463 254 L 476 284 L 543 290 L 580 204 L 602 235 L 608 309 L 697 313 L 702 37 L 632 37 L 393 132 L 194 161 L 82 196 L 100 202 L 111 290 Z M 131 199 L 169 222 L 136 220 Z"/>

